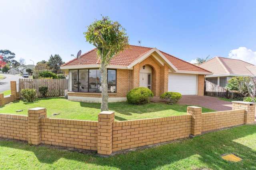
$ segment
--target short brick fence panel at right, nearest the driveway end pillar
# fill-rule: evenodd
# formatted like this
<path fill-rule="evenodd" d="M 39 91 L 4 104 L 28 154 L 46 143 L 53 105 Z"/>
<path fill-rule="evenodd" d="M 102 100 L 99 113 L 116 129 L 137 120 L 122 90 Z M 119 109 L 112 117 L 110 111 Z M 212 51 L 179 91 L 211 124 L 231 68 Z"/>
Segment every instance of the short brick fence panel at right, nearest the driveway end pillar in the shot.
<path fill-rule="evenodd" d="M 244 110 L 217 111 L 202 114 L 202 132 L 244 124 Z"/>

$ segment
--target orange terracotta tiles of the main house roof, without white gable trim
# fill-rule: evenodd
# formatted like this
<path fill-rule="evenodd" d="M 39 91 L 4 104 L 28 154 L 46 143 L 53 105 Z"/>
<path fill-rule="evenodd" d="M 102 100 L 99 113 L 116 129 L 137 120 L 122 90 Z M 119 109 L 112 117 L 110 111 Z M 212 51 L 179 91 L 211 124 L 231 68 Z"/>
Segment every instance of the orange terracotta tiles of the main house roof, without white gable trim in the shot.
<path fill-rule="evenodd" d="M 114 56 L 114 58 L 110 61 L 111 65 L 118 66 L 128 66 L 133 63 L 138 57 L 142 56 L 144 53 L 148 52 L 153 48 L 150 47 L 141 47 L 136 45 L 129 45 L 124 51 L 120 52 L 118 55 Z M 204 68 L 200 68 L 194 64 L 188 63 L 177 57 L 169 55 L 160 51 L 178 70 L 190 70 L 190 71 L 203 71 L 209 72 Z M 85 64 L 99 64 L 99 60 L 97 57 L 97 50 L 92 49 L 87 53 L 81 55 L 78 59 L 73 59 L 62 66 L 73 66 L 73 65 L 85 65 Z"/>

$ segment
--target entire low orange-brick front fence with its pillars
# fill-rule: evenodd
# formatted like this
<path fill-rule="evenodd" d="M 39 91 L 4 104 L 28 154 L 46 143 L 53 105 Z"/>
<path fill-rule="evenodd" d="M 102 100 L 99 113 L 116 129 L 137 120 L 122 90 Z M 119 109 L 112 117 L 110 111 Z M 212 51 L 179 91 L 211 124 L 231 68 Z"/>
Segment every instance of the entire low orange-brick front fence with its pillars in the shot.
<path fill-rule="evenodd" d="M 203 113 L 189 106 L 187 115 L 131 121 L 114 121 L 103 111 L 98 121 L 51 119 L 45 108 L 28 110 L 28 116 L 0 114 L 0 137 L 97 150 L 98 154 L 131 149 L 200 135 L 202 132 L 254 123 L 255 103 L 233 102 L 233 110 Z"/>

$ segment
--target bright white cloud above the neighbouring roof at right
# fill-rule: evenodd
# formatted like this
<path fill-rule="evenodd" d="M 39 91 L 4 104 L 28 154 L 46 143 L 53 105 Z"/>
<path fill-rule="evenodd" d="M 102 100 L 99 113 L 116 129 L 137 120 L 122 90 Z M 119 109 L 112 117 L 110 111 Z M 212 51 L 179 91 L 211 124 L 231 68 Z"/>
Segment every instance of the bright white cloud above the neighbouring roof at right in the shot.
<path fill-rule="evenodd" d="M 256 51 L 247 49 L 246 47 L 239 47 L 231 50 L 228 54 L 230 59 L 240 59 L 242 61 L 256 65 Z"/>

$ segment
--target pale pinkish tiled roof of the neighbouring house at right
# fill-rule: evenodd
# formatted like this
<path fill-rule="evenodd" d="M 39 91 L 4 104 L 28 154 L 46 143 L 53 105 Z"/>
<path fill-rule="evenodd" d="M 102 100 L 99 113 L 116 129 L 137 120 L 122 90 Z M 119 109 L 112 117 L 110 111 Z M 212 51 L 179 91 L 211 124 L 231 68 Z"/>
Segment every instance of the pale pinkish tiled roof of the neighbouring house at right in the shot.
<path fill-rule="evenodd" d="M 254 74 L 251 71 L 254 69 L 254 71 L 256 71 L 256 68 L 253 64 L 242 60 L 229 59 L 224 57 L 214 57 L 202 64 L 199 64 L 199 66 L 213 72 L 213 74 L 208 77 L 253 76 Z"/>

